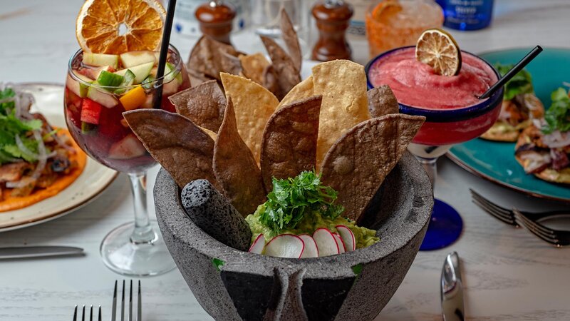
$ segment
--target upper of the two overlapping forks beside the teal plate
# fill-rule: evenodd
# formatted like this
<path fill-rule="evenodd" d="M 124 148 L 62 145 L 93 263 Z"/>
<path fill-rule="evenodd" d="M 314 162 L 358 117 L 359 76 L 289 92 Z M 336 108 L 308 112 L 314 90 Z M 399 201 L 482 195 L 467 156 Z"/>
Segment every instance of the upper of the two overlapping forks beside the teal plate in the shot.
<path fill-rule="evenodd" d="M 487 198 L 484 198 L 482 195 L 475 192 L 475 190 L 470 189 L 470 192 L 471 192 L 471 196 L 472 196 L 472 201 L 473 201 L 473 203 L 475 203 L 475 205 L 479 206 L 485 212 L 491 214 L 494 218 L 497 218 L 497 220 L 500 220 L 503 223 L 507 223 L 509 225 L 512 225 L 515 228 L 520 227 L 519 223 L 517 222 L 517 220 L 515 218 L 514 209 L 509 210 L 508 208 L 502 208 L 501 206 L 499 206 L 495 203 L 492 203 Z M 566 211 L 565 210 L 552 210 L 549 212 L 541 212 L 541 213 L 526 212 L 523 210 L 519 210 L 519 213 L 521 213 L 527 219 L 532 220 L 532 221 L 541 220 L 542 218 L 547 218 L 549 216 L 554 216 L 554 215 L 570 215 L 570 211 L 567 211 L 567 210 Z"/>

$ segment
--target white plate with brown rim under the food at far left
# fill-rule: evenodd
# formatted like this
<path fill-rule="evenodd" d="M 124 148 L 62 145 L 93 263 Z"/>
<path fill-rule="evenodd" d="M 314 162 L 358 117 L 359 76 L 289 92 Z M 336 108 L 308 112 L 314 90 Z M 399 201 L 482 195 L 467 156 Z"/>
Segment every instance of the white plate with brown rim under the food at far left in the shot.
<path fill-rule="evenodd" d="M 23 83 L 18 86 L 32 93 L 36 99 L 33 112 L 41 112 L 53 126 L 66 128 L 63 86 L 55 83 Z M 117 175 L 115 170 L 88 157 L 83 173 L 66 189 L 26 208 L 0 212 L 0 232 L 27 228 L 71 213 L 103 192 Z"/>

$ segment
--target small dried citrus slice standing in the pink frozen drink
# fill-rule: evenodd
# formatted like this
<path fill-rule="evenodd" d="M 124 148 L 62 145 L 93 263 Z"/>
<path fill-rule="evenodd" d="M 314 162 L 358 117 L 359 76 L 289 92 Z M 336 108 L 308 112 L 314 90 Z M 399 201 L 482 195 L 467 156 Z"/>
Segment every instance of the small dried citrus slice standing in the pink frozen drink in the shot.
<path fill-rule="evenodd" d="M 461 70 L 461 51 L 455 39 L 441 29 L 427 29 L 415 44 L 416 60 L 438 75 L 455 76 Z"/>

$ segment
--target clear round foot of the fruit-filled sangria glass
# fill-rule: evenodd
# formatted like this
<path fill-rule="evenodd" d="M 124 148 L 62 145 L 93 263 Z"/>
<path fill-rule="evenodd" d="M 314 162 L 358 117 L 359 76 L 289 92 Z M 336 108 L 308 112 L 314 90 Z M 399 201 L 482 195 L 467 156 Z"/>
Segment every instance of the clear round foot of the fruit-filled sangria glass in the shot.
<path fill-rule="evenodd" d="M 149 243 L 135 244 L 130 235 L 135 223 L 125 223 L 110 231 L 100 246 L 103 263 L 121 275 L 141 277 L 160 275 L 176 265 L 159 232 L 156 220 L 150 220 L 155 238 Z"/>

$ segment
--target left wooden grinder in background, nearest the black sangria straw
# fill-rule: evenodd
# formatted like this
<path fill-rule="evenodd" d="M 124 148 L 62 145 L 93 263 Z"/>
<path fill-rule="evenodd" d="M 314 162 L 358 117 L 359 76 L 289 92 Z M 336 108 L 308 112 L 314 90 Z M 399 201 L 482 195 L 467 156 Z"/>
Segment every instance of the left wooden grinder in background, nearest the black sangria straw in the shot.
<path fill-rule="evenodd" d="M 205 36 L 230 44 L 229 33 L 232 31 L 236 11 L 222 0 L 212 0 L 198 6 L 195 12 L 200 30 Z"/>

